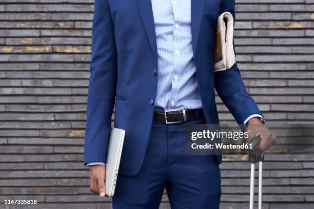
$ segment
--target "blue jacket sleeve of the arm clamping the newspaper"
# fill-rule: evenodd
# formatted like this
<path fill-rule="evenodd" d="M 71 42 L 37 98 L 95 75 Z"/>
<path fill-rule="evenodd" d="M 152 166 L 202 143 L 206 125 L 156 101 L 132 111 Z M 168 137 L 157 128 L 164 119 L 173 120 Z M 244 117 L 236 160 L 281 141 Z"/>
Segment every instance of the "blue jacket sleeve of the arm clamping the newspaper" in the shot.
<path fill-rule="evenodd" d="M 230 12 L 235 21 L 234 6 L 235 0 L 224 0 L 221 13 Z M 243 124 L 251 115 L 262 115 L 246 91 L 237 63 L 229 70 L 215 72 L 215 89 L 238 124 Z"/>

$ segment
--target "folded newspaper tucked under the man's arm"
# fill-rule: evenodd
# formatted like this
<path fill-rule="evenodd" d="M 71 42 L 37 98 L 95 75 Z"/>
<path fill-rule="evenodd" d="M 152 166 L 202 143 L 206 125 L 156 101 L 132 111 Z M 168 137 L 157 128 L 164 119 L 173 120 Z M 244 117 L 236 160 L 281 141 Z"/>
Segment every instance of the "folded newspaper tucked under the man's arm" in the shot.
<path fill-rule="evenodd" d="M 230 69 L 235 64 L 233 50 L 233 17 L 224 12 L 218 17 L 214 72 Z"/>

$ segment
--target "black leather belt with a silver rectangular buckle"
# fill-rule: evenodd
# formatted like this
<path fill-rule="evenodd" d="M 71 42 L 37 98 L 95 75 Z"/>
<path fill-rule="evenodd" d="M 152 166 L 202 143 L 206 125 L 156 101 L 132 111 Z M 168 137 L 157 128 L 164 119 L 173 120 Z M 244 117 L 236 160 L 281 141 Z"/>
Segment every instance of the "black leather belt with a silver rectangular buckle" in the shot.
<path fill-rule="evenodd" d="M 159 122 L 179 123 L 187 120 L 203 118 L 203 110 L 175 110 L 166 112 L 154 112 L 154 120 Z"/>

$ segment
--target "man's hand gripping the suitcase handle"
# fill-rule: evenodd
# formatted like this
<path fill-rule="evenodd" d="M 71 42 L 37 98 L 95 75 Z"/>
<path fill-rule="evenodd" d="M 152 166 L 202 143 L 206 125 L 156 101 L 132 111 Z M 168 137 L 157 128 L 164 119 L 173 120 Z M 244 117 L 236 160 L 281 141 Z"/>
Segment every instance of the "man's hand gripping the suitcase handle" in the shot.
<path fill-rule="evenodd" d="M 260 153 L 268 150 L 274 143 L 276 143 L 276 136 L 271 133 L 271 131 L 263 126 L 260 118 L 254 117 L 248 121 L 248 127 L 245 130 L 248 132 L 248 138 L 246 142 L 250 143 L 251 139 L 254 136 L 257 136 L 261 139 L 260 144 L 257 149 Z"/>

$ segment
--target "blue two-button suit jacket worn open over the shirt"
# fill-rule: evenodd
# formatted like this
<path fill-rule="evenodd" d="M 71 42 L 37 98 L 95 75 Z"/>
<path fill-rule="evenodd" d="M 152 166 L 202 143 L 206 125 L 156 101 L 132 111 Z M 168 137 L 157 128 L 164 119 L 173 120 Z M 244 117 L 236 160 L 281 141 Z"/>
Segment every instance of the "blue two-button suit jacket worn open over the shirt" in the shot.
<path fill-rule="evenodd" d="M 207 123 L 219 123 L 215 92 L 239 124 L 261 114 L 248 95 L 237 64 L 214 73 L 217 18 L 234 0 L 191 0 L 194 62 Z M 106 162 L 111 115 L 126 130 L 120 174 L 141 169 L 153 121 L 158 71 L 154 20 L 150 0 L 96 0 L 92 31 L 85 164 Z M 155 69 L 155 70 L 154 70 Z M 221 162 L 221 156 L 217 156 Z"/>

